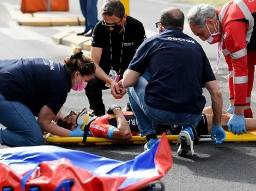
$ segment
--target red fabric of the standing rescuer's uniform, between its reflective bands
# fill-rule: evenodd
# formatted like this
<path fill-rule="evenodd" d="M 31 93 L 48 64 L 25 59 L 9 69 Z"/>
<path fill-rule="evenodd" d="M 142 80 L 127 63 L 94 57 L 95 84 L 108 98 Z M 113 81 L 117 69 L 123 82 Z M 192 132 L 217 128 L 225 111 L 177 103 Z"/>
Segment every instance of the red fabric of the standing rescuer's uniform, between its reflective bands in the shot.
<path fill-rule="evenodd" d="M 256 1 L 251 2 L 243 0 L 243 2 L 247 5 L 251 14 L 256 12 Z M 220 15 L 222 8 L 223 7 L 217 10 L 218 15 Z M 221 17 L 223 18 L 221 23 L 222 33 L 224 35 L 223 50 L 227 49 L 233 54 L 246 48 L 248 24 L 241 21 L 235 21 L 245 17 L 239 6 L 233 1 L 230 1 L 225 14 L 221 15 Z M 252 69 L 248 69 L 249 63 L 247 62 L 249 62 L 250 59 L 255 60 L 256 55 L 254 54 L 252 57 L 245 55 L 239 59 L 231 59 L 230 55 L 225 56 L 225 60 L 228 64 L 228 71 L 234 71 L 234 78 L 246 77 L 248 75 L 248 82 L 243 84 L 234 84 L 234 78 L 228 79 L 229 98 L 234 98 L 235 105 L 248 105 L 248 103 L 246 104 L 246 97 L 251 96 L 254 72 Z M 255 63 L 253 63 L 253 67 L 254 65 Z"/>

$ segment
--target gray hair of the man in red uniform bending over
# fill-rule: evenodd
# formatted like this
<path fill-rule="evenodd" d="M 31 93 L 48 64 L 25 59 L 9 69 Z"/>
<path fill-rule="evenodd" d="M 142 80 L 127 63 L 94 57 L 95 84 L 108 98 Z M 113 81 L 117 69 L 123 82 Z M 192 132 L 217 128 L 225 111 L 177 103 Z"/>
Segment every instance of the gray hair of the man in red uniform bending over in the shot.
<path fill-rule="evenodd" d="M 206 18 L 214 18 L 216 9 L 209 4 L 197 4 L 192 7 L 187 13 L 187 23 L 197 27 L 206 26 Z"/>

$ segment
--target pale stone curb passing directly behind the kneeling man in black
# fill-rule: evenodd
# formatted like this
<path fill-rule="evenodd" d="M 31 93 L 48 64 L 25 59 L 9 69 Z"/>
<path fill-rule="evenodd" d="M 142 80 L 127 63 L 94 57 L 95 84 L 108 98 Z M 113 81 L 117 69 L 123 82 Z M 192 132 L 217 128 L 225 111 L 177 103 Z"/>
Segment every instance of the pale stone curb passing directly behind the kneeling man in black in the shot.
<path fill-rule="evenodd" d="M 147 38 L 156 34 L 150 30 L 145 31 Z M 83 50 L 90 51 L 92 37 L 77 36 L 74 30 L 60 31 L 52 36 L 52 41 L 55 44 L 63 44 L 69 47 L 81 47 Z"/>

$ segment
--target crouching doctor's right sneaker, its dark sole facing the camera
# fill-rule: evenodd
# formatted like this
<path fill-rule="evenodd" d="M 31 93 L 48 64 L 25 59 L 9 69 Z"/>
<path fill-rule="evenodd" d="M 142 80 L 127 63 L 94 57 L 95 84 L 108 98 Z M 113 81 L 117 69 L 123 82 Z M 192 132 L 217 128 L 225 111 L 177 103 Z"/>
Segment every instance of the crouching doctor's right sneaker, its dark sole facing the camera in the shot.
<path fill-rule="evenodd" d="M 193 130 L 190 126 L 186 126 L 182 128 L 178 136 L 178 155 L 179 156 L 193 156 L 194 149 L 193 149 Z"/>

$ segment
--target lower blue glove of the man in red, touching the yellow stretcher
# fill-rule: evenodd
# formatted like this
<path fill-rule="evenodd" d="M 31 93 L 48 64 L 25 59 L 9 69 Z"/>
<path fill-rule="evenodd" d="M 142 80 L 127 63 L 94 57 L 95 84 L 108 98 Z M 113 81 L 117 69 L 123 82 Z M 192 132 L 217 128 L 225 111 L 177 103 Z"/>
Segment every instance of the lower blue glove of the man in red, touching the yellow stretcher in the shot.
<path fill-rule="evenodd" d="M 228 130 L 232 131 L 234 135 L 242 135 L 247 133 L 245 128 L 245 116 L 233 113 L 227 124 Z"/>

